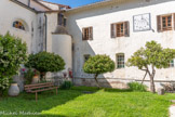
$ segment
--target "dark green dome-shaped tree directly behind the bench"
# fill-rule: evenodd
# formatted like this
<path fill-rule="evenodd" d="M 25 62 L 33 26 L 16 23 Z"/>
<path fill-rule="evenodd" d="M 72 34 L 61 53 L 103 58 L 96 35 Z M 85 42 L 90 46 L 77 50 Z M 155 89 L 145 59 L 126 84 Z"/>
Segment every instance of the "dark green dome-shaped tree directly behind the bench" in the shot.
<path fill-rule="evenodd" d="M 65 62 L 59 55 L 54 53 L 39 52 L 30 54 L 25 66 L 39 70 L 42 79 L 48 72 L 54 73 L 65 69 Z"/>

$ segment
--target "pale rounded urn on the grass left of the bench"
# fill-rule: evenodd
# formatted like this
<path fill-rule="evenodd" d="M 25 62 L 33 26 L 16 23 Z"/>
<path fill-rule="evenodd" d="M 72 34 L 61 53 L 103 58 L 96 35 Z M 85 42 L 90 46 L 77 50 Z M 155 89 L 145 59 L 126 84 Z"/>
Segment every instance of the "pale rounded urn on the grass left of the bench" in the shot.
<path fill-rule="evenodd" d="M 9 95 L 10 96 L 17 96 L 19 94 L 19 88 L 17 83 L 12 83 L 9 89 Z"/>

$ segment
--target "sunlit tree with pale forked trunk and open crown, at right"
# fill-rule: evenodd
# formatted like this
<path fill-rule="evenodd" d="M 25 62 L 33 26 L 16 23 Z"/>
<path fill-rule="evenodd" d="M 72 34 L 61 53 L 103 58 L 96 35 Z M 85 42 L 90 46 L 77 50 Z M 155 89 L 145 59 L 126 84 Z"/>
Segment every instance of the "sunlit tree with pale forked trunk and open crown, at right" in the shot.
<path fill-rule="evenodd" d="M 160 43 L 156 41 L 147 42 L 145 48 L 138 51 L 127 60 L 127 66 L 136 66 L 138 69 L 146 72 L 150 78 L 150 91 L 156 93 L 154 89 L 154 75 L 156 68 L 167 68 L 170 62 L 175 57 L 174 49 L 163 49 Z M 143 81 L 145 80 L 145 77 Z"/>

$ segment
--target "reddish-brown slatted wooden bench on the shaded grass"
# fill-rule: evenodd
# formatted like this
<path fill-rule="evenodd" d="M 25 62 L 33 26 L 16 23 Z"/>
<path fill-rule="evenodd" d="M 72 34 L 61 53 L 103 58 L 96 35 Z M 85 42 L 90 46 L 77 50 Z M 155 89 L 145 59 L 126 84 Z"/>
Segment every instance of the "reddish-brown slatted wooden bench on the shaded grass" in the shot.
<path fill-rule="evenodd" d="M 45 82 L 45 83 L 36 83 L 36 84 L 26 84 L 25 91 L 27 93 L 36 93 L 36 102 L 38 101 L 38 92 L 49 91 L 56 89 L 57 94 L 57 88 L 53 84 L 53 82 Z"/>

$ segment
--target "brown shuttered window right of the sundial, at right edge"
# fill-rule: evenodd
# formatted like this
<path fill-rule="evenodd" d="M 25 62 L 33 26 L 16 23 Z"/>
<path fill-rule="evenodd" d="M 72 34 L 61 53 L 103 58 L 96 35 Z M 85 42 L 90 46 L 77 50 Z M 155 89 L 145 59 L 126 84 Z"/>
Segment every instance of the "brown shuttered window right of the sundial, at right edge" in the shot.
<path fill-rule="evenodd" d="M 157 17 L 158 21 L 158 31 L 166 31 L 166 30 L 172 30 L 173 24 L 175 24 L 175 14 L 174 17 L 172 14 L 169 15 L 159 15 Z M 174 21 L 174 22 L 173 22 Z"/>

